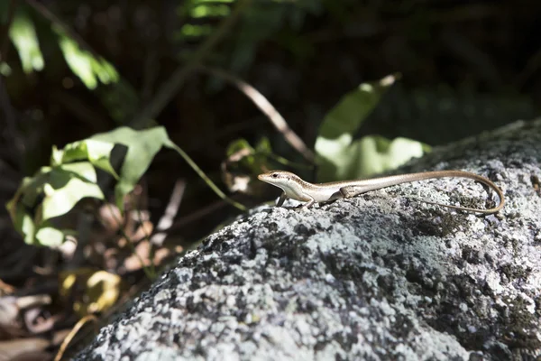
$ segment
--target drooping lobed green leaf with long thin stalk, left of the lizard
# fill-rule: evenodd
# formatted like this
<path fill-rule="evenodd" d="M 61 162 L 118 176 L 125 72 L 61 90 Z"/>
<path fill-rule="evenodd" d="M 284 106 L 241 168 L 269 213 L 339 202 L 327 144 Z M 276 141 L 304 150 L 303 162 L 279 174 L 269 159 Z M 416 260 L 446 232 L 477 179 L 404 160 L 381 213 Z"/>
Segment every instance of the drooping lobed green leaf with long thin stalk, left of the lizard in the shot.
<path fill-rule="evenodd" d="M 177 151 L 222 199 L 245 209 L 243 205 L 228 199 L 188 154 L 170 141 L 163 127 L 142 131 L 121 127 L 84 141 L 69 143 L 62 150 L 53 147 L 52 166 L 41 167 L 34 177 L 23 180 L 6 208 L 25 242 L 32 244 L 37 240 L 40 245 L 60 245 L 69 230 L 50 226 L 50 219 L 65 215 L 81 199 L 105 199 L 96 184 L 96 168 L 115 174 L 111 166 L 111 151 L 115 144 L 122 144 L 127 149 L 115 185 L 116 205 L 121 210 L 124 210 L 124 196 L 133 190 L 156 153 L 164 146 Z"/>

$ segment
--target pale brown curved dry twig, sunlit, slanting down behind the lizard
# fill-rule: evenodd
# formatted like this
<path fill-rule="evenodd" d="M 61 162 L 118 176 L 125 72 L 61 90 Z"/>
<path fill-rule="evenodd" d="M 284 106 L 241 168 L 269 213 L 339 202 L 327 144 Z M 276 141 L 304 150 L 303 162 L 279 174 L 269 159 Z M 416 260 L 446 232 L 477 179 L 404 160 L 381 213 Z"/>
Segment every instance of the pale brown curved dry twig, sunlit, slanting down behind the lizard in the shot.
<path fill-rule="evenodd" d="M 243 81 L 243 79 L 240 79 L 223 69 L 199 66 L 197 67 L 197 70 L 212 74 L 217 78 L 224 79 L 242 91 L 243 94 L 252 100 L 253 104 L 269 118 L 272 125 L 276 127 L 276 129 L 284 136 L 286 141 L 293 148 L 295 148 L 298 153 L 301 153 L 309 162 L 315 161 L 315 155 L 307 147 L 307 144 L 305 144 L 302 139 L 300 139 L 300 137 L 289 127 L 288 122 L 286 122 L 284 117 L 280 115 L 278 110 L 272 106 L 271 102 L 264 97 L 259 90 L 253 88 L 250 84 Z"/>

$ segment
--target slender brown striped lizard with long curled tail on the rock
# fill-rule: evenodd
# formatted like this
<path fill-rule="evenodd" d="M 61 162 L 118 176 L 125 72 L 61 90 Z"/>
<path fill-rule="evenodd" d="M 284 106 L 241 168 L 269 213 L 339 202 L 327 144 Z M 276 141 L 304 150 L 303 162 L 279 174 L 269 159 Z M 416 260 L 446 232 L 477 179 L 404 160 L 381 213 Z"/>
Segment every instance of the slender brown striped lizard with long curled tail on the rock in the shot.
<path fill-rule="evenodd" d="M 491 180 L 469 171 L 423 171 L 418 173 L 407 173 L 391 175 L 387 177 L 371 178 L 366 180 L 340 180 L 328 183 L 310 183 L 302 180 L 297 174 L 290 171 L 267 171 L 258 175 L 258 179 L 267 182 L 283 190 L 278 200 L 277 207 L 280 207 L 286 199 L 305 201 L 301 208 L 309 208 L 314 203 L 330 202 L 335 199 L 351 198 L 370 190 L 381 190 L 382 188 L 395 186 L 402 183 L 409 183 L 417 180 L 431 180 L 438 178 L 468 178 L 476 180 L 494 190 L 500 198 L 498 206 L 489 209 L 465 208 L 423 200 L 429 204 L 435 204 L 446 208 L 454 208 L 468 212 L 481 214 L 493 214 L 500 211 L 505 204 L 503 192 Z"/>

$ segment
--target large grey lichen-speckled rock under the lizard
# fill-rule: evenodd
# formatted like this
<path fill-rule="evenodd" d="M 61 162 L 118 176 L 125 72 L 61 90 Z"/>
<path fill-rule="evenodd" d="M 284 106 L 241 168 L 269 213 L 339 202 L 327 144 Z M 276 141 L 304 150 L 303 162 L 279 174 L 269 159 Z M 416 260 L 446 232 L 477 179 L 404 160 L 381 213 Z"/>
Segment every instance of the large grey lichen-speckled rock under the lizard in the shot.
<path fill-rule="evenodd" d="M 261 207 L 179 259 L 78 360 L 507 360 L 541 349 L 541 121 L 437 149 L 460 169 L 306 210 Z"/>

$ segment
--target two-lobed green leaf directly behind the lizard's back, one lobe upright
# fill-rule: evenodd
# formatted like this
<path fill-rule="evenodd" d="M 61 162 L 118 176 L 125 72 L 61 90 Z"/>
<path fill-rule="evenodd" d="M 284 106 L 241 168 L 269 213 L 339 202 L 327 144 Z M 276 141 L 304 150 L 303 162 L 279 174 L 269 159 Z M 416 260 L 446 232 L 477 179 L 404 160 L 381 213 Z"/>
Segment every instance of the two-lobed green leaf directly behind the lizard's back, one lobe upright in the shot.
<path fill-rule="evenodd" d="M 381 136 L 353 139 L 364 119 L 394 83 L 396 76 L 363 83 L 345 95 L 326 115 L 316 139 L 317 180 L 347 180 L 389 171 L 419 157 L 429 148 L 406 138 Z"/>

